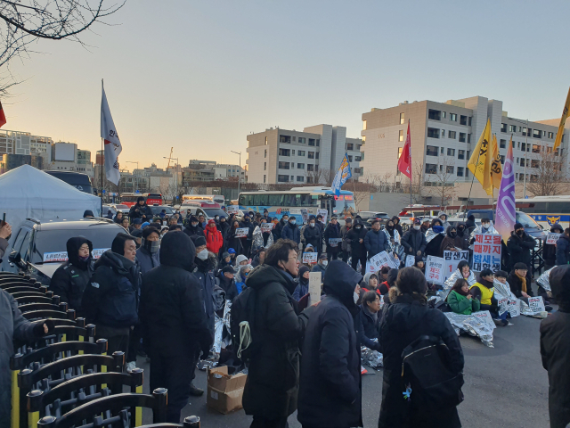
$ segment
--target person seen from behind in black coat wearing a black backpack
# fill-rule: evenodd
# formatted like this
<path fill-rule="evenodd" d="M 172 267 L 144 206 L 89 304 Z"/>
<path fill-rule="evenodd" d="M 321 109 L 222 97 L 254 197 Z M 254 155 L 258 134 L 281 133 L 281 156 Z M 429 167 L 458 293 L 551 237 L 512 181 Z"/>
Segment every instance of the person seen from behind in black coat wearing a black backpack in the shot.
<path fill-rule="evenodd" d="M 426 277 L 413 267 L 400 269 L 395 287 L 390 288 L 391 304 L 387 309 L 383 309 L 380 321 L 379 342 L 384 355 L 384 384 L 379 428 L 461 426 L 457 405 L 461 401 L 463 350 L 457 333 L 444 313 L 428 308 L 427 290 Z M 403 373 L 403 353 L 413 357 L 412 352 L 419 350 L 416 346 L 418 340 L 423 339 L 425 335 L 430 336 L 433 341 L 443 342 L 446 348 L 443 352 L 430 352 L 431 358 L 436 359 L 424 358 L 423 371 L 413 366 L 416 359 L 410 358 L 410 362 L 404 365 Z M 445 355 L 444 362 L 439 358 L 442 354 Z M 418 352 L 418 355 L 425 354 Z M 430 366 L 437 367 L 431 369 L 430 376 L 437 374 L 437 377 L 442 378 L 441 382 L 448 381 L 449 375 L 453 376 L 455 381 L 449 383 L 448 389 L 437 390 L 435 394 L 430 392 L 427 388 L 429 385 L 421 376 L 421 373 L 430 370 Z M 418 370 L 414 371 L 414 368 Z M 409 375 L 410 372 L 419 374 L 418 382 Z M 426 401 L 436 405 L 422 407 L 421 403 Z"/>

